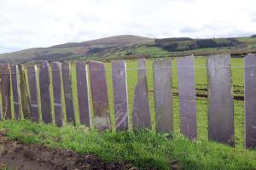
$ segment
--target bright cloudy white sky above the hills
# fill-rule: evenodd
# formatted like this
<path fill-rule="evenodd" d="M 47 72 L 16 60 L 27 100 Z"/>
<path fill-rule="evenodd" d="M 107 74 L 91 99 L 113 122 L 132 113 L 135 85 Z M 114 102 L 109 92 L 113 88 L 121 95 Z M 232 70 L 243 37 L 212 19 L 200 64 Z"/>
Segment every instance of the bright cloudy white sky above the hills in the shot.
<path fill-rule="evenodd" d="M 101 37 L 245 37 L 256 0 L 0 0 L 0 54 Z"/>

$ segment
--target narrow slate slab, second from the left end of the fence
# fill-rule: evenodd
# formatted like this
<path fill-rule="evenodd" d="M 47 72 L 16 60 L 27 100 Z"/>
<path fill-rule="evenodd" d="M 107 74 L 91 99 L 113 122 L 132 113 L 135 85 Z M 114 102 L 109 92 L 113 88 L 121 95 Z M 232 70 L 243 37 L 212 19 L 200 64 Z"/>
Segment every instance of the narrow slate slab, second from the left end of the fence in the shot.
<path fill-rule="evenodd" d="M 13 89 L 13 99 L 14 99 L 14 110 L 15 110 L 15 119 L 20 119 L 20 91 L 18 86 L 18 65 L 11 65 L 11 74 L 12 74 L 12 89 Z"/>

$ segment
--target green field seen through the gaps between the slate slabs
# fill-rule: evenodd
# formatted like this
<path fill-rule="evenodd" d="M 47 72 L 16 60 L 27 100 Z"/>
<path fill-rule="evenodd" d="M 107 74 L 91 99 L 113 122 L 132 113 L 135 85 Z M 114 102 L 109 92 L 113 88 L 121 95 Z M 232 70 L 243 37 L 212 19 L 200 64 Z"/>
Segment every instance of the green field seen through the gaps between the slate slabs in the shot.
<path fill-rule="evenodd" d="M 151 111 L 151 119 L 154 128 L 154 84 L 153 84 L 153 70 L 152 70 L 153 59 L 147 60 L 147 71 L 148 71 L 148 98 Z M 179 133 L 179 105 L 177 96 L 177 59 L 172 59 L 172 92 L 173 92 L 173 111 L 175 116 L 175 133 Z M 130 112 L 130 122 L 131 122 L 131 111 L 133 105 L 134 90 L 137 84 L 137 59 L 126 60 L 127 64 L 127 82 L 128 82 L 128 94 L 129 94 L 129 112 Z M 242 59 L 232 59 L 232 80 L 234 84 L 234 95 L 238 97 L 243 97 L 243 65 Z M 195 83 L 196 83 L 196 94 L 201 94 L 197 97 L 197 122 L 198 122 L 198 138 L 207 139 L 207 68 L 206 59 L 203 57 L 195 59 Z M 114 118 L 113 113 L 113 88 L 112 88 L 112 76 L 111 76 L 111 63 L 106 63 L 106 75 L 108 81 L 108 95 L 110 103 L 110 112 L 112 120 Z M 75 81 L 75 72 L 73 71 L 73 82 Z M 76 87 L 76 84 L 73 84 Z M 73 88 L 76 89 L 76 88 Z M 77 104 L 76 91 L 74 90 L 74 102 Z M 243 101 L 235 100 L 235 133 L 236 133 L 236 146 L 243 146 Z M 78 117 L 78 105 L 76 106 L 77 117 Z M 78 117 L 79 118 L 79 117 Z M 114 124 L 114 123 L 113 123 Z"/>

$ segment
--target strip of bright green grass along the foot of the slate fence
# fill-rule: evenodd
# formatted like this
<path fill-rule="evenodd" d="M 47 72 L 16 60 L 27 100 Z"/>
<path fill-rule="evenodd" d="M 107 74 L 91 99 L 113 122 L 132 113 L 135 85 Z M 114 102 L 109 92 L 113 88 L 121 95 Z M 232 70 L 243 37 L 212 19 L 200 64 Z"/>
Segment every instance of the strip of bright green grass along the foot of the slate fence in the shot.
<path fill-rule="evenodd" d="M 105 161 L 128 161 L 139 168 L 170 169 L 177 163 L 183 169 L 255 169 L 256 151 L 231 148 L 203 140 L 183 138 L 154 131 L 98 133 L 84 126 L 55 127 L 29 121 L 3 121 L 10 139 L 26 144 L 46 144 L 91 153 Z"/>

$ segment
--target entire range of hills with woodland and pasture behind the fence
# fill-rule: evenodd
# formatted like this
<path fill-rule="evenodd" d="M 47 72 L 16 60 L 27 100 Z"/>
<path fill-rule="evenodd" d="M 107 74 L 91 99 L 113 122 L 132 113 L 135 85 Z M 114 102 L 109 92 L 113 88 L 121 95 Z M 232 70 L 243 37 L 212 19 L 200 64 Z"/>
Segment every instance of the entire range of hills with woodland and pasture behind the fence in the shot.
<path fill-rule="evenodd" d="M 236 57 L 241 57 L 247 53 L 256 53 L 256 37 L 209 39 L 172 37 L 153 39 L 124 35 L 86 42 L 68 42 L 49 48 L 30 48 L 14 53 L 0 54 L 0 60 L 7 59 L 11 63 L 26 63 L 28 61 L 40 60 L 110 60 L 224 53 L 229 53 Z"/>

